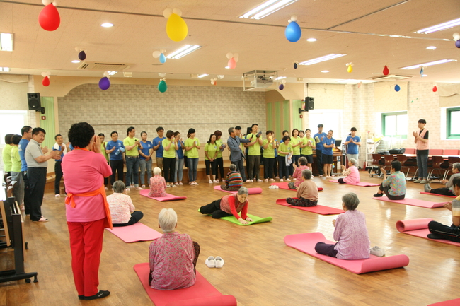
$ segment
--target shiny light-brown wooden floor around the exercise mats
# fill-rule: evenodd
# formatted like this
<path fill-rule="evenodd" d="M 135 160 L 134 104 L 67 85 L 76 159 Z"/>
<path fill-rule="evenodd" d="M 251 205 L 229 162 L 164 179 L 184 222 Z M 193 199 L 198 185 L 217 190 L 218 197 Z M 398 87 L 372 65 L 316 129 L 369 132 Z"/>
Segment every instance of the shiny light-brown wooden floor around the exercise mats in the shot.
<path fill-rule="evenodd" d="M 360 172 L 364 182 L 380 182 Z M 321 232 L 330 240 L 332 220 L 275 204 L 276 199 L 294 196 L 294 192 L 269 189 L 269 183 L 248 183 L 262 187 L 263 194 L 249 196 L 248 212 L 260 217 L 271 216 L 270 223 L 238 226 L 224 220 L 213 220 L 197 212 L 223 192 L 213 184 L 168 189 L 171 194 L 187 196 L 184 201 L 159 202 L 132 192 L 137 210 L 144 212 L 142 223 L 157 228 L 161 208 L 174 208 L 178 213 L 178 232 L 188 233 L 201 245 L 197 270 L 221 293 L 231 294 L 240 306 L 271 305 L 427 305 L 460 298 L 460 249 L 452 245 L 398 233 L 397 220 L 433 218 L 451 223 L 444 208 L 418 208 L 372 199 L 377 187 L 338 185 L 315 177 L 320 192 L 319 204 L 341 207 L 346 192 L 360 197 L 358 210 L 365 213 L 372 246 L 386 249 L 387 255 L 406 254 L 410 264 L 364 275 L 355 275 L 284 245 L 289 234 Z M 439 184 L 433 186 L 440 187 Z M 447 201 L 439 196 L 419 194 L 422 184 L 408 182 L 408 197 L 428 201 Z M 110 194 L 110 192 L 109 192 Z M 136 273 L 134 264 L 148 261 L 149 243 L 127 244 L 105 232 L 100 265 L 100 286 L 110 290 L 108 298 L 80 301 L 71 273 L 69 235 L 64 214 L 64 197 L 46 193 L 42 212 L 48 223 L 25 220 L 28 241 L 26 271 L 38 271 L 38 283 L 13 281 L 0 283 L 0 305 L 152 305 Z M 221 256 L 222 269 L 209 269 L 205 259 Z M 11 253 L 0 254 L 1 270 L 12 269 Z M 9 258 L 9 259 L 8 259 Z M 457 284 L 457 285 L 455 285 Z M 218 305 L 217 305 L 218 306 Z"/>

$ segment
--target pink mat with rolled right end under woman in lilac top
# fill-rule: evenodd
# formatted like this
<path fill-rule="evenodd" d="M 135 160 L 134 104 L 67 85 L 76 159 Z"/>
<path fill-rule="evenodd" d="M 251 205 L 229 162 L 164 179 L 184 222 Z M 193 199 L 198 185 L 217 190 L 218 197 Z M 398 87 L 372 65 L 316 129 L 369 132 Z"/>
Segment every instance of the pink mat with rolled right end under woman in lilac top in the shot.
<path fill-rule="evenodd" d="M 355 274 L 402 268 L 409 264 L 409 257 L 406 255 L 394 255 L 389 257 L 376 257 L 371 255 L 369 259 L 358 260 L 336 259 L 335 257 L 328 257 L 316 253 L 315 245 L 317 242 L 335 244 L 333 241 L 326 240 L 326 237 L 321 233 L 287 235 L 284 237 L 284 243 L 286 243 L 287 246 L 298 249 L 300 252 L 304 252 Z"/>

